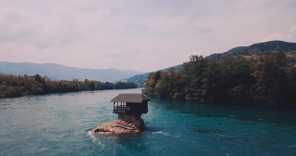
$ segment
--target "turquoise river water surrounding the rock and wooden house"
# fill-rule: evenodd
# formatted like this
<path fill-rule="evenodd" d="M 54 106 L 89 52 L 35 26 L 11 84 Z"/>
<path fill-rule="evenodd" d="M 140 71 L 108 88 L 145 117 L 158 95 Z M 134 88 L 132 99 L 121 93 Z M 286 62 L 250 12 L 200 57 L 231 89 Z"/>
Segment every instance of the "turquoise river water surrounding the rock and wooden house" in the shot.
<path fill-rule="evenodd" d="M 95 136 L 109 102 L 140 89 L 0 99 L 0 155 L 296 155 L 296 113 L 150 97 L 146 130 Z"/>

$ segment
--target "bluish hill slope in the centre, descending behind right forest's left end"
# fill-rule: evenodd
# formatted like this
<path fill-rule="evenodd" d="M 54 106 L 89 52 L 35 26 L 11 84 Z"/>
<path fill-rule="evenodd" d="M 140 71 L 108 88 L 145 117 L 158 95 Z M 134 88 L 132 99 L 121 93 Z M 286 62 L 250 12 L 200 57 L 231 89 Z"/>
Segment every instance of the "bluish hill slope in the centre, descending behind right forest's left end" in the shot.
<path fill-rule="evenodd" d="M 166 70 L 168 70 L 169 68 L 172 68 L 172 67 L 174 67 L 175 69 L 179 69 L 180 67 L 182 67 L 182 65 L 183 64 L 171 66 L 171 67 L 168 67 L 168 68 L 161 69 L 160 71 L 166 71 Z M 143 87 L 145 85 L 145 83 L 146 83 L 146 80 L 147 80 L 149 74 L 150 74 L 150 72 L 143 73 L 143 74 L 136 74 L 136 75 L 131 76 L 129 78 L 120 79 L 120 80 L 117 80 L 117 81 L 134 82 L 134 83 L 136 83 L 138 85 L 138 87 Z"/>

